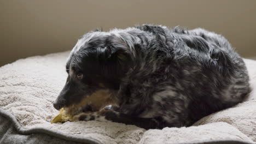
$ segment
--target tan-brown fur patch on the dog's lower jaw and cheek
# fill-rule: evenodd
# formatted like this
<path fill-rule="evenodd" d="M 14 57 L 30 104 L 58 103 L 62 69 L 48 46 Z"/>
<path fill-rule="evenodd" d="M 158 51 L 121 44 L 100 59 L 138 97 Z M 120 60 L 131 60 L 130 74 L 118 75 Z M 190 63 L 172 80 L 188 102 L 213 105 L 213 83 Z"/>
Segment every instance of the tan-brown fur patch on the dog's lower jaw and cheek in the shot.
<path fill-rule="evenodd" d="M 100 90 L 84 98 L 78 104 L 63 107 L 65 113 L 71 116 L 82 112 L 96 112 L 109 105 L 117 106 L 117 100 L 108 90 Z"/>

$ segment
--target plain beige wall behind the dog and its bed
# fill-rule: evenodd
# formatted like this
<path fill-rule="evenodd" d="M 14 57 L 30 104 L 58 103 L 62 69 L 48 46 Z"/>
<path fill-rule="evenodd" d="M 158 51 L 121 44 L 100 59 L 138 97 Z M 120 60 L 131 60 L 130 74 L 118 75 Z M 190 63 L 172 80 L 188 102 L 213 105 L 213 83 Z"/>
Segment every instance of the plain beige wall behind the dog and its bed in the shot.
<path fill-rule="evenodd" d="M 92 29 L 153 23 L 223 34 L 243 57 L 256 56 L 256 1 L 0 0 L 0 65 L 71 50 Z"/>

